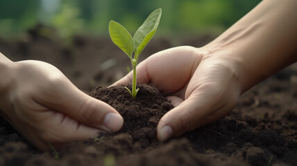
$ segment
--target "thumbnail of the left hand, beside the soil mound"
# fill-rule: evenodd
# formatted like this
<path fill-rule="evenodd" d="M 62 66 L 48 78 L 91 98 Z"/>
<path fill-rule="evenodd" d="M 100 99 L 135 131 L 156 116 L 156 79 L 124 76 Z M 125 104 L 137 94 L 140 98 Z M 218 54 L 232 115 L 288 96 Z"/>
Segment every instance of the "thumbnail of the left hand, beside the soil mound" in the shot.
<path fill-rule="evenodd" d="M 123 125 L 123 122 L 123 118 L 117 113 L 108 113 L 103 120 L 103 125 L 110 131 L 118 131 Z"/>

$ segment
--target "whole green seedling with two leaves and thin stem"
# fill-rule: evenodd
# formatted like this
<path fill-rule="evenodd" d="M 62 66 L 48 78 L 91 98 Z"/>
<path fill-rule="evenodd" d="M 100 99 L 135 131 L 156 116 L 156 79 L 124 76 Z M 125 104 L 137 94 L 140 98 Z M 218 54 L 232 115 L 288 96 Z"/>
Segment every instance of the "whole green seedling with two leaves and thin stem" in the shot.
<path fill-rule="evenodd" d="M 116 21 L 110 21 L 109 24 L 109 31 L 110 31 L 110 38 L 115 45 L 117 45 L 121 50 L 123 50 L 128 57 L 130 57 L 130 61 L 132 64 L 133 70 L 133 82 L 132 82 L 132 91 L 128 89 L 131 93 L 133 99 L 135 100 L 137 92 L 139 89 L 136 89 L 136 66 L 137 60 L 144 50 L 144 47 L 148 42 L 151 40 L 153 35 L 155 35 L 155 31 L 158 28 L 160 18 L 162 15 L 162 10 L 159 8 L 151 13 L 146 18 L 146 21 L 138 28 L 135 35 L 132 37 L 130 33 L 121 26 L 121 24 L 117 23 Z M 134 56 L 133 56 L 134 53 Z"/>

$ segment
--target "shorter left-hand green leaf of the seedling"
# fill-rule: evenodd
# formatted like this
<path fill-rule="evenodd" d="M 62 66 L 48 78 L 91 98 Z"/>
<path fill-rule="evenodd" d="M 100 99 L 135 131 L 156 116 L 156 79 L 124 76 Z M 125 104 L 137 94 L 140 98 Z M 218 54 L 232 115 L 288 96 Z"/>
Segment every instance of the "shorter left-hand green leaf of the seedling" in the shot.
<path fill-rule="evenodd" d="M 115 45 L 123 50 L 132 59 L 134 50 L 134 41 L 130 33 L 116 21 L 110 21 L 108 26 L 110 31 L 110 38 Z"/>

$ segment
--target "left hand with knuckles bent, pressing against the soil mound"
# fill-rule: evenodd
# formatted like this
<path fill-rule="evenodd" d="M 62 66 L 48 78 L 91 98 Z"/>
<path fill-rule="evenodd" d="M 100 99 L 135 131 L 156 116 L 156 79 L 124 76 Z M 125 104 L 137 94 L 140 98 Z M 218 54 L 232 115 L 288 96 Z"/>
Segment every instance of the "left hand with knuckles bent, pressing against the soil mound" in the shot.
<path fill-rule="evenodd" d="M 35 147 L 45 150 L 48 143 L 57 147 L 123 125 L 115 109 L 77 89 L 51 64 L 12 62 L 8 72 L 0 113 Z"/>

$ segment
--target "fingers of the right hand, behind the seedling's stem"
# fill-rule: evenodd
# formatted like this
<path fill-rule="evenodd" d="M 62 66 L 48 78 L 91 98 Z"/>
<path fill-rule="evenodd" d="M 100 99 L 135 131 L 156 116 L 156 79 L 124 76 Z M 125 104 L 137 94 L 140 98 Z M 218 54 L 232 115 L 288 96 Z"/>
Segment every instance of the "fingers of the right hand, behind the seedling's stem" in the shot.
<path fill-rule="evenodd" d="M 137 82 L 153 84 L 161 92 L 176 92 L 187 84 L 201 59 L 202 54 L 190 46 L 162 50 L 137 65 Z M 132 79 L 130 72 L 113 86 L 131 83 Z"/>

